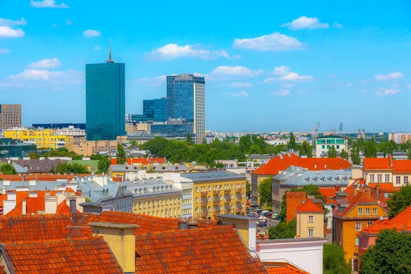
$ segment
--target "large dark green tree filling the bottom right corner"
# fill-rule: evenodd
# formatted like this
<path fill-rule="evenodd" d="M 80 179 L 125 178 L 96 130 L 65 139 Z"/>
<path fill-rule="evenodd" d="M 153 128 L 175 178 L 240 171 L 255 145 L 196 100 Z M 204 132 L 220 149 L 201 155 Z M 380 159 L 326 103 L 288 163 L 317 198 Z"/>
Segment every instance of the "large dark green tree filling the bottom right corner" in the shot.
<path fill-rule="evenodd" d="M 360 274 L 411 273 L 411 236 L 396 229 L 379 232 L 375 245 L 361 256 Z"/>

